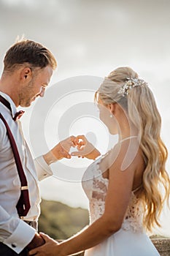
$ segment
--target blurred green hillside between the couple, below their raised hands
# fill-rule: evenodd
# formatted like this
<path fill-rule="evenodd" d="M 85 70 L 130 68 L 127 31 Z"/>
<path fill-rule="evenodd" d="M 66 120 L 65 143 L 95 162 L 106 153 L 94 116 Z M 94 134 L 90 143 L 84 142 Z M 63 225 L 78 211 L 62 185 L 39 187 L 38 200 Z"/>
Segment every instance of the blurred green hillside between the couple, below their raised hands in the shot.
<path fill-rule="evenodd" d="M 66 239 L 88 225 L 88 211 L 63 203 L 42 200 L 39 232 L 55 239 Z"/>

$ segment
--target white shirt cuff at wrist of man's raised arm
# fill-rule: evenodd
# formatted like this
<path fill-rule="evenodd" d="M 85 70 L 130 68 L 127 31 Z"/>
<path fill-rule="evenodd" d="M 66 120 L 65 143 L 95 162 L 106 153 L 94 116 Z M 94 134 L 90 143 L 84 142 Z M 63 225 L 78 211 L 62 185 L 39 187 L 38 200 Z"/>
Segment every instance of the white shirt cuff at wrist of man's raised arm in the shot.
<path fill-rule="evenodd" d="M 51 170 L 50 166 L 47 165 L 47 162 L 45 162 L 43 156 L 34 159 L 34 165 L 36 167 L 36 175 L 39 181 L 53 175 L 53 171 Z"/>

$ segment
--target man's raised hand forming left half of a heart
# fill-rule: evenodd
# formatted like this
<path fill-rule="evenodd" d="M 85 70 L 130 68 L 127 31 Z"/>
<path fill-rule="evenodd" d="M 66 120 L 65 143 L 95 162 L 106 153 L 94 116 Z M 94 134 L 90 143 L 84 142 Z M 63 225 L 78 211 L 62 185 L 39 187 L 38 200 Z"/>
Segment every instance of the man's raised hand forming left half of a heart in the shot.
<path fill-rule="evenodd" d="M 56 162 L 63 158 L 71 158 L 69 151 L 71 147 L 76 146 L 75 138 L 76 137 L 74 136 L 70 136 L 69 138 L 62 140 L 52 150 L 45 154 L 43 157 L 47 164 L 50 165 L 52 162 Z"/>

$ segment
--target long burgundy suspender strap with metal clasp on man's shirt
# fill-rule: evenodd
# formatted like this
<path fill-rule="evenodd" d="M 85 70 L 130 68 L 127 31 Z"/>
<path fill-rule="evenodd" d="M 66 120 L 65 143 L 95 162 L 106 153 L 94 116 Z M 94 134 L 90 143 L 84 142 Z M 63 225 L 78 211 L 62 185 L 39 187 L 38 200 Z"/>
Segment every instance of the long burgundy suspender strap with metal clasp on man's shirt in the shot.
<path fill-rule="evenodd" d="M 4 117 L 1 115 L 1 113 L 0 113 L 0 118 L 4 122 L 5 127 L 7 128 L 7 135 L 8 135 L 9 142 L 11 144 L 12 151 L 14 154 L 15 163 L 16 163 L 17 169 L 18 169 L 18 175 L 20 177 L 20 184 L 21 184 L 20 199 L 18 200 L 18 204 L 17 204 L 16 208 L 18 210 L 18 215 L 20 217 L 24 217 L 24 216 L 26 216 L 26 214 L 28 214 L 28 211 L 31 207 L 30 202 L 29 202 L 29 195 L 28 195 L 28 184 L 27 184 L 25 173 L 23 171 L 23 166 L 20 161 L 20 155 L 18 153 L 18 148 L 15 143 L 15 139 L 14 139 L 12 132 L 9 128 L 9 125 L 7 124 L 7 121 L 4 119 Z"/>

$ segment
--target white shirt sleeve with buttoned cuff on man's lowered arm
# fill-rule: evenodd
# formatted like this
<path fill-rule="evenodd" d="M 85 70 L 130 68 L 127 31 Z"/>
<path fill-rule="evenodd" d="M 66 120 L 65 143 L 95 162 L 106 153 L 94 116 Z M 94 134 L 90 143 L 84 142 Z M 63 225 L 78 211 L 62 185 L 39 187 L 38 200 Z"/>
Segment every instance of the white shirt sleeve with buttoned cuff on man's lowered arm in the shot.
<path fill-rule="evenodd" d="M 23 220 L 10 216 L 0 206 L 0 241 L 20 253 L 34 238 L 36 230 Z"/>

